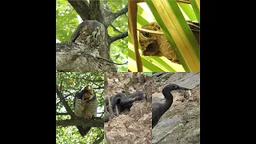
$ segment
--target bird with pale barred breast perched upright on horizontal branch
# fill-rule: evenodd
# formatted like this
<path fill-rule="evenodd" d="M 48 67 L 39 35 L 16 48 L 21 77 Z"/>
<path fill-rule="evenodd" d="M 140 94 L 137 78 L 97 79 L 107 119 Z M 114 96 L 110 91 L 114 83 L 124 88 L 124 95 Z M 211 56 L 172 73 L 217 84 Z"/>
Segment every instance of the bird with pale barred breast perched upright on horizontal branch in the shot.
<path fill-rule="evenodd" d="M 84 87 L 74 96 L 74 114 L 81 118 L 96 117 L 98 100 L 91 86 Z M 77 126 L 79 133 L 85 136 L 90 127 Z"/>

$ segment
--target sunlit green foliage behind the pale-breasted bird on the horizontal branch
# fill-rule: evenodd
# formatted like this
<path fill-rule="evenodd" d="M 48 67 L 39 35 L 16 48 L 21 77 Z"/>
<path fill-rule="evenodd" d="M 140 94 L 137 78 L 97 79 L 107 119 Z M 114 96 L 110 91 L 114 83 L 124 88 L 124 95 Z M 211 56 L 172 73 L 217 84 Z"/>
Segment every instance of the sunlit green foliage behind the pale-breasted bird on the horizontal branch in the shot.
<path fill-rule="evenodd" d="M 95 82 L 94 82 L 95 81 Z M 103 90 L 104 90 L 104 74 L 103 73 L 56 73 L 56 84 L 58 90 L 61 91 L 66 98 L 71 110 L 74 110 L 74 94 L 82 90 L 84 86 L 92 86 L 94 93 L 98 98 L 98 113 L 104 111 Z M 99 89 L 98 89 L 99 88 Z M 56 112 L 66 113 L 65 107 L 59 102 L 56 95 Z M 98 114 L 98 117 L 104 117 L 104 114 Z M 69 115 L 56 116 L 56 120 L 69 119 Z M 93 143 L 95 138 L 99 138 L 103 134 L 103 128 L 92 128 L 90 132 L 82 137 L 76 126 L 56 127 L 56 143 Z M 103 142 L 102 142 L 103 143 Z"/>

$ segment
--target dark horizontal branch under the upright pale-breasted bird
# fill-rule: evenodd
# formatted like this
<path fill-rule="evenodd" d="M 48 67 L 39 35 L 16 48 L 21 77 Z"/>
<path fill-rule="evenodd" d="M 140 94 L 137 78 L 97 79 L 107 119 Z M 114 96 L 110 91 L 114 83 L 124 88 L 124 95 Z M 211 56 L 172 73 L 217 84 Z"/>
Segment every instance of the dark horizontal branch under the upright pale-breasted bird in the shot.
<path fill-rule="evenodd" d="M 60 120 L 56 122 L 56 126 L 88 126 L 88 127 L 104 127 L 102 118 L 85 119 L 74 117 L 71 119 Z"/>

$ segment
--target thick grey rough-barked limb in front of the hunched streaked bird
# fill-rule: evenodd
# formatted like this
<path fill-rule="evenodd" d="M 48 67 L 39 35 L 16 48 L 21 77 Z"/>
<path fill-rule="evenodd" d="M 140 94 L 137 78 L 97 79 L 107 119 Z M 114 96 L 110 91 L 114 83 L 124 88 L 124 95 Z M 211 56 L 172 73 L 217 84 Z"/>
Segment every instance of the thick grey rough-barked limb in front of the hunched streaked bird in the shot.
<path fill-rule="evenodd" d="M 117 71 L 114 64 L 87 54 L 86 51 L 84 51 L 85 45 L 79 45 L 75 42 L 61 42 L 57 43 L 56 46 L 56 68 L 58 71 Z M 104 50 L 99 51 L 102 58 L 109 59 L 110 56 L 103 53 Z M 103 51 L 102 54 L 101 51 Z"/>

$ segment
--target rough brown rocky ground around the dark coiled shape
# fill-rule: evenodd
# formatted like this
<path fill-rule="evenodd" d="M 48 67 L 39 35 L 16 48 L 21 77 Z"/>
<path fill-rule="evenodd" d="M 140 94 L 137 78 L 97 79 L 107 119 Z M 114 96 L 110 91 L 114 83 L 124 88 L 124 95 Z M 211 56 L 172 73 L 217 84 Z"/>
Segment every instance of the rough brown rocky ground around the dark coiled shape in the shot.
<path fill-rule="evenodd" d="M 107 73 L 105 97 L 118 94 L 122 90 L 128 93 L 142 90 L 146 94 L 146 101 L 134 102 L 134 105 L 117 117 L 104 124 L 106 141 L 108 144 L 151 144 L 152 143 L 152 102 L 150 77 L 144 80 L 138 73 Z"/>

